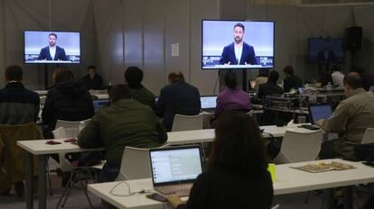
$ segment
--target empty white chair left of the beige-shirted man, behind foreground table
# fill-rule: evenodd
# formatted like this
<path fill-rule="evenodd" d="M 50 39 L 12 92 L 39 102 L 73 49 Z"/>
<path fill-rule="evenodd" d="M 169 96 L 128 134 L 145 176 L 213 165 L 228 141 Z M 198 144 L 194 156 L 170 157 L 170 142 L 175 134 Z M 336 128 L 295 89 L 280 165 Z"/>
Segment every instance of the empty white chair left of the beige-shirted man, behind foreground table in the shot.
<path fill-rule="evenodd" d="M 276 164 L 309 161 L 318 158 L 323 141 L 323 131 L 286 131 L 281 150 L 274 159 Z"/>

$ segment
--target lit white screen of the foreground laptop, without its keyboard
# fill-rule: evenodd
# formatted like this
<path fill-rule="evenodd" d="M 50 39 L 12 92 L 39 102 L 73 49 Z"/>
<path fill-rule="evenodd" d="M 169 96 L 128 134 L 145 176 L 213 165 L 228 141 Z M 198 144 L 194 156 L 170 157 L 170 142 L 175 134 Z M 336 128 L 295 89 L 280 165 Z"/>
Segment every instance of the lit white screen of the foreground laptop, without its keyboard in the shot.
<path fill-rule="evenodd" d="M 202 172 L 198 147 L 150 151 L 154 184 L 194 180 Z"/>

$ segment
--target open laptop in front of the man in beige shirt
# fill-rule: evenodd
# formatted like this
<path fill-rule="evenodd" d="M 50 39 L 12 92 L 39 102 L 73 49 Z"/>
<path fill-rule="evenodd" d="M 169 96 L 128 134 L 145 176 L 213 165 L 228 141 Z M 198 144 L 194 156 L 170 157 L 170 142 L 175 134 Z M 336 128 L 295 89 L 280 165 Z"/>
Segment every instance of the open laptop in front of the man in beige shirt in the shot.
<path fill-rule="evenodd" d="M 312 125 L 301 125 L 300 127 L 309 130 L 318 130 L 320 127 L 317 122 L 320 119 L 327 119 L 332 116 L 332 105 L 331 104 L 309 104 L 308 105 L 309 116 Z"/>

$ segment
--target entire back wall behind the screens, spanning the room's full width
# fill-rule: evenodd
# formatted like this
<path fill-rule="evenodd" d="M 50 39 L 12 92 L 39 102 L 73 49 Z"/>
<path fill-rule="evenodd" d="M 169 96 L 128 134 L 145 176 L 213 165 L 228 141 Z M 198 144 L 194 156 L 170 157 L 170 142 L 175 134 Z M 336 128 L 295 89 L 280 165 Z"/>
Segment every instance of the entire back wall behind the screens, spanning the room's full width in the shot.
<path fill-rule="evenodd" d="M 201 70 L 201 19 L 274 20 L 276 22 L 276 69 L 293 65 L 296 75 L 316 78 L 317 65 L 307 62 L 307 38 L 342 37 L 344 29 L 363 27 L 363 49 L 356 63 L 374 68 L 372 6 L 305 6 L 249 4 L 246 0 L 0 0 L 0 79 L 5 67 L 21 65 L 24 83 L 42 89 L 44 66 L 23 64 L 24 30 L 81 32 L 82 65 L 70 65 L 75 77 L 97 65 L 106 84 L 124 82 L 128 66 L 145 70 L 144 85 L 158 95 L 171 71 L 180 70 L 201 95 L 211 95 L 216 70 Z M 240 6 L 238 6 L 240 5 Z M 239 8 L 238 8 L 239 7 Z M 244 10 L 243 10 L 243 7 Z M 238 9 L 236 9 L 238 8 Z M 179 56 L 172 57 L 172 44 Z M 347 53 L 345 70 L 351 66 Z M 51 71 L 49 80 L 51 85 Z M 282 77 L 283 72 L 281 72 Z M 248 78 L 257 70 L 248 70 Z M 282 78 L 281 77 L 281 78 Z M 217 91 L 216 91 L 217 93 Z"/>

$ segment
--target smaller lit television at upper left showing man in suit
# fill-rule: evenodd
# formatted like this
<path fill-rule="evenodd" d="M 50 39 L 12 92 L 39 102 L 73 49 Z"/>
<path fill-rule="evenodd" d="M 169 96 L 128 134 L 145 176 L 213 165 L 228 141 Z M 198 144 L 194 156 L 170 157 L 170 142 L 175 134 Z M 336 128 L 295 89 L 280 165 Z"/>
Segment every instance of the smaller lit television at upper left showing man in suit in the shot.
<path fill-rule="evenodd" d="M 24 32 L 25 63 L 80 63 L 79 32 Z"/>

